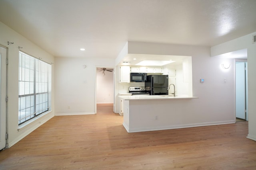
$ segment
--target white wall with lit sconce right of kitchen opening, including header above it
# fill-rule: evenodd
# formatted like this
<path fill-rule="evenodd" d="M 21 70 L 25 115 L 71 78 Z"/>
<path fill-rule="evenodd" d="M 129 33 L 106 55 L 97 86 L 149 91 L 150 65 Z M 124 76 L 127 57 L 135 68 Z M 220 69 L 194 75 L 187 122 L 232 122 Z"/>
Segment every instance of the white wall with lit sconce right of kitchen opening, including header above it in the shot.
<path fill-rule="evenodd" d="M 128 53 L 192 56 L 193 96 L 199 98 L 192 100 L 193 107 L 187 109 L 196 117 L 194 123 L 235 122 L 232 59 L 228 60 L 231 64 L 230 69 L 223 70 L 223 59 L 210 57 L 210 47 L 159 43 L 128 42 Z M 204 78 L 205 82 L 200 83 L 200 78 Z"/>

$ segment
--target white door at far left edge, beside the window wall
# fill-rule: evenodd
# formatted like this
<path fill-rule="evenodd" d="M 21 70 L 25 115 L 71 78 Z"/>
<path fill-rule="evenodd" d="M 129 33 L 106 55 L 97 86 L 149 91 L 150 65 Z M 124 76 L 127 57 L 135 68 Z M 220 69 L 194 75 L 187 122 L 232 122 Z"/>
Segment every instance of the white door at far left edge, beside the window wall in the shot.
<path fill-rule="evenodd" d="M 0 150 L 6 146 L 6 56 L 7 49 L 0 46 Z"/>

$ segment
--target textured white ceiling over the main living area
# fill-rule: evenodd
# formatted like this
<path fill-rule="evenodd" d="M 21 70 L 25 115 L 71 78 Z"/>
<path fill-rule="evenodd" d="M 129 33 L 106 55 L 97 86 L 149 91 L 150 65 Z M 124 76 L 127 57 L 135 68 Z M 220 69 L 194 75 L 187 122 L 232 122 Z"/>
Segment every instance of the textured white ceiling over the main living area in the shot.
<path fill-rule="evenodd" d="M 255 32 L 255 16 L 256 0 L 0 0 L 0 21 L 56 57 L 114 59 L 126 41 L 214 46 Z"/>

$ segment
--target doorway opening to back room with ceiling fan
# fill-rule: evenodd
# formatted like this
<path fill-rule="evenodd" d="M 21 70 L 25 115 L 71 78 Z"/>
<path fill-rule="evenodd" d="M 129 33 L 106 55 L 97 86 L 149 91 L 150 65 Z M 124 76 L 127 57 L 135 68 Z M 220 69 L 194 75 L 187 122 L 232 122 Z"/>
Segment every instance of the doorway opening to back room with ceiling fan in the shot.
<path fill-rule="evenodd" d="M 114 113 L 114 80 L 114 67 L 96 67 L 96 112 L 99 105 L 112 105 Z"/>

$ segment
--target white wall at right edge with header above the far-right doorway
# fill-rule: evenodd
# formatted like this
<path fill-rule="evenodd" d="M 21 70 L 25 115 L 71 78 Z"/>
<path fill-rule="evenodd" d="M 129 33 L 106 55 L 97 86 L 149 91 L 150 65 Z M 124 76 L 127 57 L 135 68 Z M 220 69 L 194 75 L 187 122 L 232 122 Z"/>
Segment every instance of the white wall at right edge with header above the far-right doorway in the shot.
<path fill-rule="evenodd" d="M 216 45 L 211 48 L 211 55 L 222 55 L 240 49 L 247 49 L 248 62 L 248 138 L 256 141 L 256 43 L 252 43 L 252 35 L 256 32 L 240 38 Z"/>

